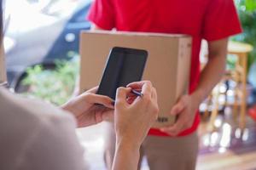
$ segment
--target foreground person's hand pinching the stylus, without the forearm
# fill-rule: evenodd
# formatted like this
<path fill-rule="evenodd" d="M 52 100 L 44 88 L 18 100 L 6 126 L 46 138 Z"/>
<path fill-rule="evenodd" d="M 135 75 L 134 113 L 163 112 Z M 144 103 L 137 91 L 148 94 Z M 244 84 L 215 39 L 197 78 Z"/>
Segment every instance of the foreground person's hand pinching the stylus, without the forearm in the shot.
<path fill-rule="evenodd" d="M 115 110 L 114 127 L 117 140 L 127 140 L 140 145 L 146 137 L 149 128 L 158 116 L 157 94 L 151 82 L 133 82 L 129 88 L 118 88 Z M 132 102 L 127 98 L 131 88 L 142 89 L 143 97 L 137 96 Z M 132 141 L 133 140 L 133 141 Z"/>

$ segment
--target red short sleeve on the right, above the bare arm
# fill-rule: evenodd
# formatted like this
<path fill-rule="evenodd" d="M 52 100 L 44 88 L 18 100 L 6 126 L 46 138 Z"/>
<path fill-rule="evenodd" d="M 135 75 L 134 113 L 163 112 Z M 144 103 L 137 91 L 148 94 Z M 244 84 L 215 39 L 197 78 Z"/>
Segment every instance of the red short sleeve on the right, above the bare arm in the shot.
<path fill-rule="evenodd" d="M 202 36 L 214 41 L 241 33 L 233 0 L 210 0 L 204 18 Z"/>

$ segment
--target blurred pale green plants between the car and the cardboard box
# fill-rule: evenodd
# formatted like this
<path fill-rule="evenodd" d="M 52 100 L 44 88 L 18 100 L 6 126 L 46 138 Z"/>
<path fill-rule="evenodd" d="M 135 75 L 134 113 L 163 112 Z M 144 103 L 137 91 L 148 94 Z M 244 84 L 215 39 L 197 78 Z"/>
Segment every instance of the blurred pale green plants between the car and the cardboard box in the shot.
<path fill-rule="evenodd" d="M 45 69 L 35 65 L 26 70 L 27 76 L 22 85 L 28 90 L 23 93 L 29 98 L 44 99 L 55 105 L 64 104 L 73 94 L 79 75 L 79 57 L 71 60 L 57 60 L 55 69 Z"/>

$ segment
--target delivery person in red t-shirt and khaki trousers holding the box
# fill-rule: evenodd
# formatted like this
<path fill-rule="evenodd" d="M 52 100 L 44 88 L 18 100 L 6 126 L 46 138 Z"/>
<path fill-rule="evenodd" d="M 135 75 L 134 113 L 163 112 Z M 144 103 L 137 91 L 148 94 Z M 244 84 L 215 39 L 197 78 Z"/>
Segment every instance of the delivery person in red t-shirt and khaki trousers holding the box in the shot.
<path fill-rule="evenodd" d="M 89 20 L 95 29 L 188 34 L 193 38 L 189 94 L 181 96 L 169 113 L 177 116 L 177 122 L 151 128 L 142 150 L 151 170 L 195 169 L 198 107 L 224 74 L 228 38 L 241 32 L 233 0 L 95 0 Z M 200 71 L 202 39 L 208 42 L 209 55 Z M 115 141 L 111 124 L 108 133 L 105 161 L 110 169 Z"/>

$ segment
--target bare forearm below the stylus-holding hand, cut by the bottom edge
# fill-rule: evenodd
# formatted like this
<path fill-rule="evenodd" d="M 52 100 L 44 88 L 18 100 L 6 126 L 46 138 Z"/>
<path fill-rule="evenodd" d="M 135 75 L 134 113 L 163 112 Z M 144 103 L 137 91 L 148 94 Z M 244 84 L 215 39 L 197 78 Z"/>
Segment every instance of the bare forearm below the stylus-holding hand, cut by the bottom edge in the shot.
<path fill-rule="evenodd" d="M 139 160 L 139 146 L 127 142 L 117 141 L 113 159 L 113 170 L 137 170 Z"/>

